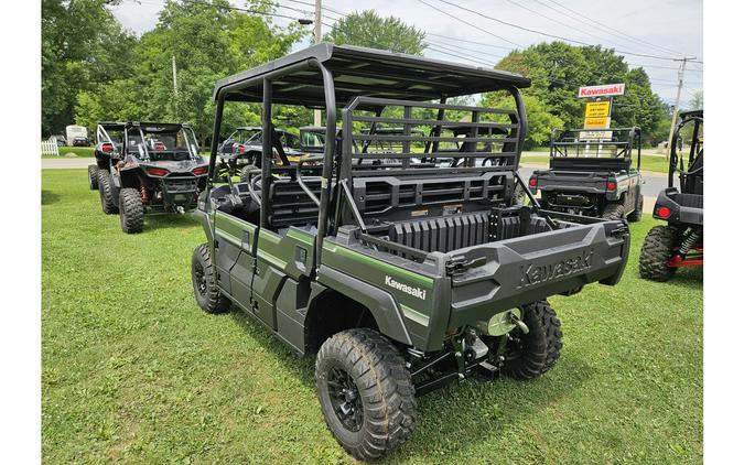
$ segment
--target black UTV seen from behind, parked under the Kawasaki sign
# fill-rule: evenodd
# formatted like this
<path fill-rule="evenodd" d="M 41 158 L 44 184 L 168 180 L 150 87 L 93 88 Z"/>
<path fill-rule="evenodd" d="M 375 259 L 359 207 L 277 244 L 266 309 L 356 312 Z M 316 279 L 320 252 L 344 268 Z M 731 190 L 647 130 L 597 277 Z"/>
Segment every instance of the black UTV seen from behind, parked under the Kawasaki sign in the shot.
<path fill-rule="evenodd" d="M 532 173 L 529 188 L 550 210 L 638 221 L 641 183 L 640 129 L 553 129 L 550 166 Z"/>

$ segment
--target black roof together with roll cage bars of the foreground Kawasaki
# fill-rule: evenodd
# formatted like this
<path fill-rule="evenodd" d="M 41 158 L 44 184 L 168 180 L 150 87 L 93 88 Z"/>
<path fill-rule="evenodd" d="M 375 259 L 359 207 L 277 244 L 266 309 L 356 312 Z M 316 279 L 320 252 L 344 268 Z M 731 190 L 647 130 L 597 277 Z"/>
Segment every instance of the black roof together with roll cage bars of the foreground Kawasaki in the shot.
<path fill-rule="evenodd" d="M 311 53 L 312 52 L 312 53 Z M 317 53 L 315 53 L 317 52 Z M 337 53 L 338 57 L 331 57 L 333 53 Z M 374 71 L 356 71 L 357 66 L 349 66 L 351 58 L 360 57 L 362 61 L 369 56 L 370 63 L 378 65 L 382 63 L 388 68 L 388 74 Z M 271 121 L 271 111 L 273 102 L 304 105 L 309 108 L 317 108 L 323 100 L 325 108 L 325 145 L 323 149 L 322 171 L 320 180 L 320 196 L 309 195 L 311 201 L 319 205 L 317 215 L 317 239 L 314 245 L 315 262 L 321 262 L 323 253 L 323 238 L 328 235 L 330 221 L 328 214 L 332 205 L 332 187 L 334 185 L 334 167 L 337 163 L 338 171 L 335 173 L 336 190 L 338 202 L 336 203 L 336 218 L 338 212 L 342 209 L 341 204 L 345 204 L 345 208 L 352 209 L 354 223 L 365 230 L 364 220 L 356 208 L 353 201 L 353 193 L 351 180 L 354 176 L 368 175 L 386 175 L 386 176 L 403 176 L 403 175 L 423 175 L 423 174 L 456 174 L 468 172 L 487 172 L 487 171 L 511 171 L 516 172 L 519 163 L 519 153 L 524 144 L 524 137 L 527 129 L 527 119 L 525 116 L 525 107 L 518 90 L 518 87 L 526 87 L 529 80 L 521 76 L 510 75 L 493 69 L 475 68 L 465 65 L 454 65 L 445 62 L 430 61 L 421 57 L 413 57 L 400 54 L 390 54 L 380 51 L 365 50 L 358 47 L 337 47 L 328 44 L 316 45 L 308 51 L 294 54 L 295 61 L 289 60 L 292 57 L 280 58 L 276 62 L 259 66 L 249 72 L 238 74 L 236 76 L 226 78 L 217 83 L 215 88 L 216 111 L 213 126 L 213 138 L 211 145 L 209 159 L 209 174 L 207 176 L 207 193 L 213 187 L 214 174 L 216 169 L 216 159 L 218 150 L 218 134 L 220 131 L 222 119 L 224 115 L 224 107 L 226 101 L 260 101 L 261 111 L 261 128 L 265 134 L 271 133 L 273 123 Z M 389 61 L 389 63 L 388 63 Z M 365 63 L 362 63 L 364 65 Z M 396 67 L 399 64 L 400 68 Z M 354 63 L 352 62 L 352 65 Z M 345 66 L 345 67 L 343 67 Z M 320 73 L 320 82 L 317 75 L 308 73 L 309 71 L 317 71 Z M 365 94 L 374 95 L 379 90 L 379 87 L 364 87 L 364 85 L 349 84 L 344 79 L 344 74 L 357 73 L 357 76 L 363 75 L 363 78 L 370 76 L 370 79 L 396 78 L 400 73 L 401 83 L 405 83 L 407 89 L 396 90 L 402 97 L 413 98 L 413 100 L 402 98 L 381 98 L 365 96 Z M 434 82 L 433 87 L 428 90 L 419 90 L 421 86 L 425 87 L 425 83 L 409 77 L 407 73 L 439 73 L 442 76 L 442 82 Z M 460 72 L 462 77 L 462 85 L 457 86 Z M 334 73 L 338 82 L 334 82 Z M 312 76 L 311 76 L 312 75 Z M 302 78 L 298 78 L 302 76 Z M 454 76 L 454 77 L 453 77 Z M 419 78 L 421 79 L 421 78 Z M 446 80 L 449 79 L 449 80 Z M 493 79 L 493 80 L 489 80 Z M 436 87 L 439 86 L 439 87 Z M 302 87 L 302 88 L 300 88 Z M 320 88 L 322 87 L 322 96 Z M 259 96 L 258 89 L 261 89 Z M 291 94 L 292 90 L 295 94 Z M 412 90 L 416 89 L 416 90 Z M 436 89 L 436 90 L 434 90 Z M 468 91 L 470 90 L 470 91 Z M 489 90 L 506 90 L 509 91 L 516 101 L 516 110 L 497 110 L 483 107 L 468 107 L 446 105 L 448 94 L 451 96 L 472 95 L 481 91 Z M 392 93 L 391 89 L 389 93 Z M 433 91 L 439 91 L 435 98 L 440 102 L 431 102 L 434 99 Z M 343 109 L 343 128 L 341 143 L 336 141 L 336 98 L 348 98 L 347 106 Z M 292 100 L 294 97 L 294 100 Z M 403 110 L 402 118 L 400 117 L 384 117 L 382 109 L 388 106 L 398 106 Z M 428 110 L 438 110 L 435 119 L 414 118 L 413 108 L 423 108 Z M 355 115 L 355 110 L 373 112 L 369 115 Z M 446 120 L 444 115 L 446 110 L 462 111 L 470 113 L 472 121 Z M 508 122 L 493 122 L 482 120 L 483 115 L 500 115 L 508 119 Z M 385 134 L 376 133 L 369 130 L 368 133 L 354 132 L 354 122 L 363 122 L 368 125 L 397 125 L 402 126 L 402 133 Z M 423 132 L 413 131 L 413 127 L 424 126 L 432 130 L 427 136 Z M 464 137 L 446 137 L 441 136 L 442 127 L 455 126 L 467 128 L 468 132 Z M 500 138 L 489 138 L 481 133 L 482 128 L 489 130 L 497 130 Z M 260 199 L 257 195 L 251 195 L 255 201 L 259 201 L 260 208 L 260 227 L 269 226 L 269 210 L 271 209 L 270 184 L 272 180 L 272 170 L 287 171 L 291 176 L 296 176 L 300 187 L 308 193 L 310 188 L 302 180 L 302 165 L 298 165 L 294 170 L 284 166 L 272 166 L 272 138 L 262 138 L 261 152 L 261 174 L 262 182 L 260 183 Z M 375 160 L 392 159 L 400 160 L 399 167 L 384 166 L 382 170 L 373 167 L 369 164 L 354 164 L 353 160 L 360 156 L 356 142 L 363 142 L 362 145 L 368 147 L 373 141 L 385 142 L 400 142 L 401 152 L 397 153 L 367 153 L 364 154 L 366 160 L 375 162 Z M 439 145 L 445 142 L 460 142 L 462 150 L 445 152 L 439 150 Z M 412 144 L 425 144 L 425 153 L 416 152 L 411 150 Z M 495 151 L 494 147 L 499 145 L 502 151 Z M 457 156 L 466 162 L 464 166 L 452 167 L 421 167 L 411 169 L 411 160 L 414 158 L 432 158 L 446 154 L 449 158 Z M 499 158 L 505 160 L 500 166 L 475 166 L 476 158 Z M 305 170 L 310 171 L 311 167 Z M 282 171 L 282 172 L 283 172 Z M 291 173 L 290 173 L 291 171 Z M 252 183 L 249 187 L 252 190 Z M 311 192 L 312 193 L 312 192 Z M 208 194 L 207 194 L 208 195 Z M 338 227 L 336 220 L 335 227 Z"/>

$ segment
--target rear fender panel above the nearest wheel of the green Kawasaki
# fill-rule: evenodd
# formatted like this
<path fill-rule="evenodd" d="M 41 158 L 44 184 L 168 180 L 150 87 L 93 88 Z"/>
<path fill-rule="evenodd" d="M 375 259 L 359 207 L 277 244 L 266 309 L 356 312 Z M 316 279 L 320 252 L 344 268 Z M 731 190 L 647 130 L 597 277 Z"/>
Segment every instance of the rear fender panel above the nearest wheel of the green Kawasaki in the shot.
<path fill-rule="evenodd" d="M 317 281 L 369 309 L 382 334 L 409 346 L 413 345 L 398 304 L 388 292 L 325 264 L 321 264 L 317 271 Z"/>

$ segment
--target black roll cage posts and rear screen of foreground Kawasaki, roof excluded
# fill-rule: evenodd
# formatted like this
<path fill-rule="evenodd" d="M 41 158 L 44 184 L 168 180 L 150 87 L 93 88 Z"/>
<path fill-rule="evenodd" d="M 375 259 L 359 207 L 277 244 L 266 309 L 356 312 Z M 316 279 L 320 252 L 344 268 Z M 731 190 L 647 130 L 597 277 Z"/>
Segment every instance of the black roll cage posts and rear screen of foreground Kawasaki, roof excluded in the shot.
<path fill-rule="evenodd" d="M 324 44 L 327 45 L 327 44 Z M 319 46 L 316 46 L 319 47 Z M 336 47 L 337 48 L 337 47 Z M 352 51 L 356 54 L 365 52 L 364 48 L 358 48 L 358 47 L 348 47 L 346 48 L 347 51 Z M 386 52 L 379 52 L 379 51 L 369 51 L 370 53 L 380 55 L 380 54 L 386 54 Z M 391 57 L 395 58 L 405 58 L 406 55 L 401 54 L 389 54 Z M 417 61 L 421 62 L 424 61 L 425 58 L 421 57 L 411 57 L 416 58 Z M 281 62 L 281 61 L 279 61 Z M 278 62 L 278 63 L 279 63 Z M 439 63 L 436 61 L 431 61 L 432 63 Z M 448 64 L 450 66 L 455 66 L 452 64 Z M 460 66 L 460 65 L 457 65 Z M 461 67 L 465 68 L 464 65 Z M 315 245 L 314 245 L 314 251 L 315 251 L 315 263 L 321 263 L 321 257 L 323 253 L 323 238 L 328 235 L 328 209 L 331 207 L 331 202 L 332 202 L 332 180 L 334 176 L 334 162 L 338 161 L 339 162 L 339 172 L 337 173 L 337 202 L 336 202 L 336 215 L 339 215 L 341 208 L 342 208 L 342 203 L 346 205 L 348 209 L 351 209 L 351 214 L 355 223 L 362 228 L 363 233 L 366 231 L 364 221 L 362 219 L 362 215 L 356 208 L 354 201 L 353 201 L 353 195 L 351 192 L 349 187 L 349 182 L 351 179 L 353 177 L 352 173 L 352 154 L 354 153 L 354 138 L 352 137 L 352 132 L 348 131 L 347 129 L 353 128 L 353 110 L 360 105 L 366 105 L 370 107 L 377 106 L 379 110 L 376 112 L 374 117 L 364 117 L 367 119 L 368 122 L 371 122 L 375 125 L 376 122 L 396 122 L 400 123 L 405 128 L 405 133 L 402 136 L 385 136 L 385 134 L 375 134 L 374 131 L 370 130 L 369 134 L 357 134 L 357 139 L 360 140 L 366 140 L 367 143 L 374 140 L 391 140 L 390 138 L 393 138 L 395 140 L 399 140 L 403 142 L 403 147 L 410 147 L 411 142 L 411 136 L 410 136 L 410 129 L 416 122 L 422 122 L 422 121 L 416 121 L 411 119 L 411 107 L 417 106 L 417 107 L 424 107 L 424 108 L 431 108 L 431 109 L 438 109 L 438 118 L 436 118 L 436 123 L 433 126 L 433 131 L 430 136 L 422 136 L 422 137 L 417 137 L 417 140 L 425 141 L 427 142 L 427 155 L 431 156 L 432 152 L 436 152 L 436 145 L 441 141 L 445 141 L 449 139 L 465 142 L 464 145 L 470 148 L 468 150 L 464 152 L 457 153 L 457 156 L 464 158 L 464 159 L 472 159 L 473 161 L 475 160 L 476 156 L 484 156 L 484 153 L 477 152 L 475 150 L 475 145 L 478 142 L 484 142 L 483 138 L 478 137 L 478 130 L 479 128 L 484 127 L 493 127 L 493 128 L 498 128 L 504 125 L 499 123 L 492 123 L 492 122 L 481 122 L 478 120 L 478 115 L 482 112 L 503 112 L 503 113 L 508 113 L 509 111 L 511 112 L 510 118 L 511 118 L 511 125 L 508 125 L 508 129 L 516 129 L 516 137 L 513 138 L 513 140 L 509 140 L 514 145 L 514 150 L 510 155 L 514 156 L 514 163 L 509 164 L 508 166 L 464 166 L 464 167 L 450 167 L 450 169 L 440 169 L 435 167 L 433 170 L 428 170 L 428 169 L 421 169 L 421 170 L 416 170 L 416 174 L 434 174 L 434 173 L 446 173 L 446 174 L 454 174 L 454 173 L 467 173 L 467 172 L 484 172 L 484 171 L 506 171 L 508 169 L 509 171 L 513 172 L 514 177 L 516 177 L 517 182 L 519 182 L 522 185 L 522 188 L 525 192 L 528 193 L 530 201 L 532 202 L 532 205 L 539 208 L 539 203 L 535 199 L 532 195 L 529 194 L 529 190 L 527 187 L 527 184 L 525 181 L 519 176 L 517 169 L 519 165 L 519 154 L 521 153 L 524 141 L 525 141 L 525 134 L 527 133 L 527 115 L 525 111 L 525 106 L 524 101 L 521 99 L 521 95 L 518 90 L 518 87 L 527 87 L 529 85 L 529 80 L 522 78 L 521 76 L 518 75 L 508 75 L 507 73 L 504 73 L 504 76 L 502 76 L 503 79 L 507 80 L 507 83 L 503 82 L 497 82 L 494 79 L 493 85 L 488 88 L 478 88 L 475 89 L 471 93 L 472 94 L 477 94 L 481 91 L 495 91 L 495 90 L 506 90 L 509 91 L 516 102 L 516 110 L 500 110 L 500 109 L 489 109 L 485 107 L 471 107 L 471 106 L 452 106 L 452 105 L 446 105 L 446 99 L 448 95 L 441 95 L 440 96 L 440 102 L 431 102 L 431 101 L 421 101 L 421 100 L 402 100 L 402 99 L 386 99 L 386 98 L 378 98 L 378 97 L 364 97 L 364 96 L 356 96 L 354 97 L 348 104 L 347 107 L 345 107 L 342 112 L 343 112 L 343 122 L 344 127 L 342 129 L 343 134 L 342 134 L 342 140 L 339 147 L 336 147 L 336 143 L 328 143 L 330 141 L 335 141 L 336 140 L 336 122 L 337 122 L 337 101 L 336 101 L 336 86 L 334 83 L 334 75 L 332 72 L 328 69 L 328 66 L 324 64 L 322 60 L 319 60 L 315 56 L 309 56 L 304 60 L 278 66 L 276 63 L 269 63 L 267 65 L 260 66 L 259 68 L 256 68 L 258 72 L 255 75 L 246 75 L 245 73 L 242 75 L 237 75 L 237 79 L 231 80 L 231 78 L 227 79 L 227 83 L 220 82 L 217 84 L 217 87 L 215 89 L 215 100 L 217 102 L 216 105 L 216 110 L 215 110 L 215 120 L 214 120 L 214 126 L 213 126 L 213 138 L 212 138 L 212 145 L 211 145 L 211 159 L 209 159 L 209 171 L 207 175 L 207 187 L 206 187 L 206 195 L 209 195 L 209 191 L 214 186 L 214 174 L 215 174 L 215 167 L 216 167 L 216 159 L 217 159 L 217 150 L 219 147 L 218 142 L 218 137 L 220 131 L 220 126 L 222 126 L 222 119 L 223 119 L 223 113 L 224 113 L 224 107 L 225 102 L 229 101 L 227 99 L 228 95 L 231 91 L 238 91 L 241 88 L 246 88 L 249 85 L 257 85 L 261 84 L 262 86 L 262 106 L 261 106 L 261 127 L 262 127 L 262 132 L 265 134 L 271 133 L 272 130 L 272 121 L 271 121 L 271 110 L 272 110 L 272 100 L 273 100 L 273 93 L 272 93 L 272 85 L 274 80 L 280 80 L 283 76 L 288 76 L 291 73 L 294 72 L 302 72 L 302 71 L 308 71 L 308 69 L 317 69 L 322 76 L 322 87 L 323 87 L 323 95 L 324 95 L 324 100 L 325 105 L 324 108 L 326 110 L 326 119 L 325 119 L 325 147 L 323 150 L 323 163 L 322 163 L 322 172 L 321 172 L 321 195 L 320 198 L 317 198 L 315 195 L 310 195 L 311 199 L 319 204 L 319 216 L 317 216 L 317 234 L 316 234 L 316 239 L 315 239 Z M 486 72 L 482 68 L 477 68 L 478 71 Z M 493 71 L 489 71 L 493 72 Z M 250 72 L 248 72 L 250 73 Z M 508 79 L 514 79 L 514 83 L 509 84 Z M 483 83 L 478 83 L 481 86 L 483 86 Z M 343 84 L 342 84 L 343 86 Z M 358 94 L 362 94 L 362 91 L 358 91 Z M 460 94 L 453 93 L 454 95 L 467 95 L 463 94 L 462 91 Z M 255 97 L 255 96 L 254 96 Z M 230 99 L 233 100 L 233 99 Z M 240 98 L 235 98 L 235 100 L 240 101 Z M 294 105 L 302 105 L 301 100 L 298 100 Z M 391 121 L 390 118 L 382 118 L 380 116 L 382 108 L 387 105 L 398 105 L 402 106 L 405 108 L 405 116 L 402 119 Z M 310 108 L 317 108 L 317 106 L 313 105 L 306 105 Z M 473 121 L 468 122 L 460 122 L 460 121 L 444 121 L 444 110 L 462 110 L 462 111 L 471 111 Z M 452 126 L 452 125 L 461 123 L 464 125 L 468 128 L 471 128 L 471 133 L 466 138 L 443 138 L 440 136 L 442 127 L 443 126 Z M 432 143 L 430 145 L 430 142 Z M 272 172 L 272 138 L 269 137 L 263 137 L 262 138 L 262 162 L 261 162 L 261 179 L 262 180 L 269 180 L 271 179 L 271 172 Z M 339 153 L 335 153 L 337 149 L 341 149 Z M 334 156 L 336 154 L 337 156 Z M 411 153 L 409 150 L 406 150 L 406 153 L 399 154 L 396 153 L 395 155 L 391 155 L 391 158 L 400 158 L 405 159 L 403 160 L 403 166 L 402 170 L 400 171 L 386 171 L 384 174 L 395 176 L 396 174 L 402 174 L 402 172 L 410 166 L 410 158 L 412 158 L 414 154 Z M 418 154 L 419 156 L 422 155 Z M 452 155 L 452 154 L 450 154 Z M 498 155 L 504 155 L 504 153 L 498 153 Z M 374 156 L 374 155 L 367 155 L 367 156 Z M 281 169 L 281 167 L 280 167 Z M 284 171 L 288 171 L 288 166 L 283 167 Z M 306 187 L 306 185 L 302 182 L 302 176 L 300 170 L 302 169 L 302 163 L 300 163 L 295 170 L 291 170 L 292 172 L 296 173 L 296 177 L 299 181 L 300 186 L 305 191 L 306 193 L 312 194 L 309 192 L 310 190 Z M 410 172 L 409 172 L 410 173 Z M 293 175 L 291 173 L 291 175 Z M 250 183 L 249 183 L 250 184 Z M 257 202 L 259 202 L 260 205 L 260 227 L 266 228 L 269 226 L 269 208 L 266 207 L 267 199 L 270 198 L 270 183 L 269 182 L 261 182 L 261 198 L 258 199 L 254 195 L 252 198 Z M 336 221 L 336 227 L 338 227 L 338 223 Z"/>

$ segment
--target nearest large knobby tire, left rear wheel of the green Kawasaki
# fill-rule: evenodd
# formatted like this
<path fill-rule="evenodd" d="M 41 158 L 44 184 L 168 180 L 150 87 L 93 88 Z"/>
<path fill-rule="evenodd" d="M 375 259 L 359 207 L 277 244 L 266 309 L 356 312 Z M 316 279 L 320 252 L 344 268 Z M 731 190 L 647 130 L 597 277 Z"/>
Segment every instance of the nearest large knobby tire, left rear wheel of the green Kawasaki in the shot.
<path fill-rule="evenodd" d="M 411 375 L 399 350 L 375 331 L 344 331 L 323 343 L 315 385 L 325 423 L 357 459 L 384 457 L 413 433 Z"/>

